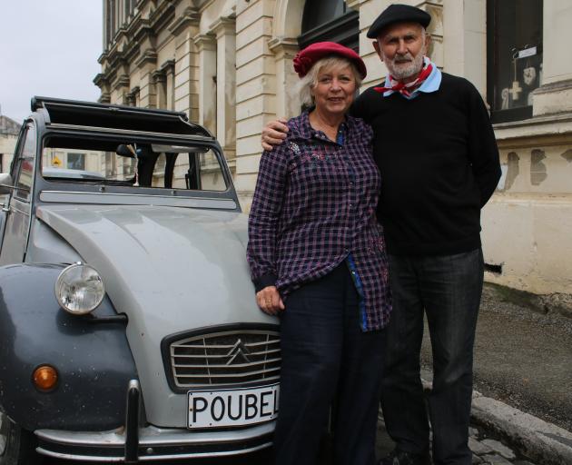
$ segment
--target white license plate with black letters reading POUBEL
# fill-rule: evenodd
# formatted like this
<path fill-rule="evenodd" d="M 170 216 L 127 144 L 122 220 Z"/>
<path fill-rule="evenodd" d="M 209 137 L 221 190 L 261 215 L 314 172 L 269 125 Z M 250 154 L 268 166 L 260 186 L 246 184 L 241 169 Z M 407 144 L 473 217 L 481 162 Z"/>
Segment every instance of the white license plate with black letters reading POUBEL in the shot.
<path fill-rule="evenodd" d="M 189 391 L 189 428 L 245 426 L 278 416 L 280 385 Z"/>

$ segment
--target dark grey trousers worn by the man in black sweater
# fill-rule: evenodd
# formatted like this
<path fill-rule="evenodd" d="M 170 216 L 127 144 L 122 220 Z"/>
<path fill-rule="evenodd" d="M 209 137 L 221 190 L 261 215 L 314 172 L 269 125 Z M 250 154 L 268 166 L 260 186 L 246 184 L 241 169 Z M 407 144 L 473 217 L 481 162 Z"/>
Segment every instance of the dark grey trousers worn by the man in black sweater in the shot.
<path fill-rule="evenodd" d="M 473 346 L 483 285 L 480 249 L 447 256 L 390 256 L 393 313 L 381 407 L 399 450 L 426 453 L 429 423 L 419 379 L 423 312 L 433 351 L 429 417 L 435 464 L 471 463 L 468 420 Z"/>

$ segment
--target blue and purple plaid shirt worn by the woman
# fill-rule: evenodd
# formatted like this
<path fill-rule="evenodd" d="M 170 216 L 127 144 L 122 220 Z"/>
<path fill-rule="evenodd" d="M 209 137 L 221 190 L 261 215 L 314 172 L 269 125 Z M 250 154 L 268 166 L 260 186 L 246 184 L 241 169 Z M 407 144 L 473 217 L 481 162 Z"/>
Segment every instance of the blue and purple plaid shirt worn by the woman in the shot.
<path fill-rule="evenodd" d="M 390 320 L 391 297 L 371 128 L 347 116 L 343 143 L 334 143 L 311 128 L 307 112 L 288 127 L 284 143 L 262 153 L 252 200 L 247 258 L 256 290 L 275 285 L 285 298 L 346 261 L 361 329 L 379 330 Z"/>

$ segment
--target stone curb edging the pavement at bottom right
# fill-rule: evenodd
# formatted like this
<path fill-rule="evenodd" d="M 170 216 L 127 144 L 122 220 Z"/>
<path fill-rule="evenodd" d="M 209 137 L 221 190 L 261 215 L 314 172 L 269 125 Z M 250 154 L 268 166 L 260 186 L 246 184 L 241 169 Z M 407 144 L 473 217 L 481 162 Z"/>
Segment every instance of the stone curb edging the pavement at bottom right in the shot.
<path fill-rule="evenodd" d="M 421 370 L 425 391 L 431 390 L 433 373 Z M 473 391 L 471 420 L 494 432 L 519 453 L 541 465 L 572 465 L 572 432 L 519 411 L 504 402 Z"/>

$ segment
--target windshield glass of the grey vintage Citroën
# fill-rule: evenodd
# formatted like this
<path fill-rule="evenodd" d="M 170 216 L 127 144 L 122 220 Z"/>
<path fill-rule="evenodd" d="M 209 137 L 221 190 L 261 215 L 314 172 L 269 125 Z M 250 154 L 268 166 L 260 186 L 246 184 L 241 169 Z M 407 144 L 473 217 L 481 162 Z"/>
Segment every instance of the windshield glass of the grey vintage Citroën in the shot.
<path fill-rule="evenodd" d="M 42 175 L 57 182 L 225 191 L 217 154 L 201 144 L 57 136 L 44 141 Z"/>

